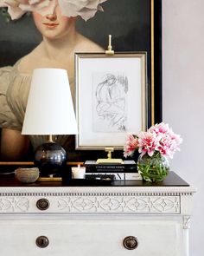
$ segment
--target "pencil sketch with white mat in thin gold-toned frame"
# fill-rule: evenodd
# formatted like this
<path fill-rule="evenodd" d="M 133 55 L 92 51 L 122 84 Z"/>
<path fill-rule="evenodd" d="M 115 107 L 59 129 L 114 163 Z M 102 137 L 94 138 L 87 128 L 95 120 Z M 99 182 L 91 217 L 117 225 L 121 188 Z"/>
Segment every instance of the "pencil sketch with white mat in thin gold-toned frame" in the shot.
<path fill-rule="evenodd" d="M 76 149 L 122 149 L 147 128 L 146 53 L 75 55 Z"/>

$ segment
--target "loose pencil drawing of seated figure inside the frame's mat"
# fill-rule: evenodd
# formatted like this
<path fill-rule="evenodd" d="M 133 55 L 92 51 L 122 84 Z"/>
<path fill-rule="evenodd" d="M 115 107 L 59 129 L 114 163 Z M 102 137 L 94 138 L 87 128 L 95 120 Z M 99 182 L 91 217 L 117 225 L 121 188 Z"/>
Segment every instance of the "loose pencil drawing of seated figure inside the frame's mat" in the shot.
<path fill-rule="evenodd" d="M 128 79 L 124 74 L 107 74 L 96 87 L 96 112 L 109 131 L 125 131 Z"/>

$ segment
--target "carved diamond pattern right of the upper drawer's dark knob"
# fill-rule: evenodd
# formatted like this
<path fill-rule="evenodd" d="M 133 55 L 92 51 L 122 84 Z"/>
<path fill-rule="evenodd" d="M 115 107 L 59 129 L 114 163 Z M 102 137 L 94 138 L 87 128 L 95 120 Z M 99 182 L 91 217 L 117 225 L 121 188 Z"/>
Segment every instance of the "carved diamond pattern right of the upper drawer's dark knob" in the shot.
<path fill-rule="evenodd" d="M 70 213 L 180 213 L 178 196 L 67 197 L 58 210 Z"/>

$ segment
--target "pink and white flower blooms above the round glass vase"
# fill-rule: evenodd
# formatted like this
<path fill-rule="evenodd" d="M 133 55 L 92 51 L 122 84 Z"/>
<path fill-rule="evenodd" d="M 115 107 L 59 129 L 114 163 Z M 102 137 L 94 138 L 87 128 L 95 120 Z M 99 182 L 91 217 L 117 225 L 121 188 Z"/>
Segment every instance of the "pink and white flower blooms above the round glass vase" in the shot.
<path fill-rule="evenodd" d="M 173 158 L 178 146 L 182 143 L 180 135 L 175 135 L 168 124 L 163 122 L 151 126 L 146 132 L 138 135 L 129 135 L 124 145 L 124 157 L 132 156 L 136 150 L 143 156 L 153 156 L 160 153 L 162 156 Z"/>

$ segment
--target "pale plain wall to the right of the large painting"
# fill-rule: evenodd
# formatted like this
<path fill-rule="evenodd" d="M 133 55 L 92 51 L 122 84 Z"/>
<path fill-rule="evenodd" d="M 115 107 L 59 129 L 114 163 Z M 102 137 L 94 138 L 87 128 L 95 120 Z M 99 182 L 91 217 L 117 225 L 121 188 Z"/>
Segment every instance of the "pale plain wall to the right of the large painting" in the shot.
<path fill-rule="evenodd" d="M 175 154 L 171 169 L 198 190 L 191 218 L 190 256 L 203 256 L 203 0 L 163 0 L 163 121 L 183 138 L 182 151 Z"/>

